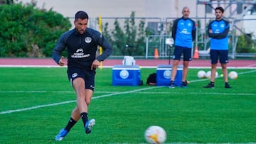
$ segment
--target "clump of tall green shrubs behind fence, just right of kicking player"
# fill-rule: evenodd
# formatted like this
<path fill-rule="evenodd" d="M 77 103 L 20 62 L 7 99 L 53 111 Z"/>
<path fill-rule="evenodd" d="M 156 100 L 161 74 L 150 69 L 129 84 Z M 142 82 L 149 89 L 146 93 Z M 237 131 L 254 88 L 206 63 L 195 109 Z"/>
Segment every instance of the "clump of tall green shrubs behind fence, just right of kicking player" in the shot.
<path fill-rule="evenodd" d="M 139 26 L 135 23 L 135 12 L 124 21 L 124 28 L 121 28 L 118 18 L 114 21 L 114 31 L 108 31 L 109 23 L 105 23 L 103 35 L 113 45 L 112 55 L 144 55 L 145 50 L 145 21 L 142 18 Z"/>

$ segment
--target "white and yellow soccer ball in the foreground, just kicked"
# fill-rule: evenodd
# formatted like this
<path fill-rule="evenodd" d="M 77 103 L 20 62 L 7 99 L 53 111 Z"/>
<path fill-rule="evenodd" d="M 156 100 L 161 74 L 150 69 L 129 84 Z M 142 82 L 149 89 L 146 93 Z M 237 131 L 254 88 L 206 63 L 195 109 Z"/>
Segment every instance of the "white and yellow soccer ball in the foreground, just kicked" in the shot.
<path fill-rule="evenodd" d="M 160 126 L 149 126 L 145 131 L 145 140 L 151 144 L 161 144 L 166 140 L 166 131 Z"/>

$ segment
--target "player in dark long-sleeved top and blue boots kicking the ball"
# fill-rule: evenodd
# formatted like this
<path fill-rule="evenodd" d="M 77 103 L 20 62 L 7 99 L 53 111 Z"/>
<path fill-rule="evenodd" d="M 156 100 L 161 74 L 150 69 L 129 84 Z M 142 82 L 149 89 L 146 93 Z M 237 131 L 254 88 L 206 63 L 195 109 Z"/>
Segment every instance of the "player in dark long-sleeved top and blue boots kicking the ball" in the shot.
<path fill-rule="evenodd" d="M 65 65 L 61 52 L 68 50 L 68 79 L 75 90 L 77 103 L 73 109 L 70 120 L 65 128 L 55 136 L 55 140 L 63 140 L 70 129 L 81 118 L 85 133 L 90 133 L 95 119 L 88 120 L 87 111 L 93 91 L 95 89 L 95 70 L 100 62 L 112 53 L 112 45 L 107 42 L 103 35 L 87 28 L 89 16 L 85 11 L 75 13 L 75 28 L 60 36 L 53 50 L 53 60 L 58 65 Z M 104 50 L 102 55 L 96 57 L 97 47 L 100 45 Z"/>

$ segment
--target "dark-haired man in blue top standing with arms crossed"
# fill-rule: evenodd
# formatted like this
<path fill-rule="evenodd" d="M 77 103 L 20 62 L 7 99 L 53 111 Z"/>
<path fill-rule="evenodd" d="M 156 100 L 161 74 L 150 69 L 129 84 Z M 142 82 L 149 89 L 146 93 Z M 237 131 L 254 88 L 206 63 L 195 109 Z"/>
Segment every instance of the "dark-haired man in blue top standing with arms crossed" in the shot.
<path fill-rule="evenodd" d="M 210 83 L 204 88 L 215 88 L 215 72 L 218 59 L 223 71 L 224 87 L 231 88 L 228 84 L 228 32 L 230 24 L 223 19 L 224 9 L 222 7 L 215 8 L 215 20 L 208 25 L 208 36 L 210 37 Z M 219 58 L 218 58 L 219 57 Z"/>

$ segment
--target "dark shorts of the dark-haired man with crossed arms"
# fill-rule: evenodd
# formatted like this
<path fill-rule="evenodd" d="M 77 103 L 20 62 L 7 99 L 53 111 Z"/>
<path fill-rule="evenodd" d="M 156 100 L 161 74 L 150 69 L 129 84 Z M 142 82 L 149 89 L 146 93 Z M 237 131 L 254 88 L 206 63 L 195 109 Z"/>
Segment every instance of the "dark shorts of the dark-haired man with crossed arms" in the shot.
<path fill-rule="evenodd" d="M 218 59 L 221 64 L 228 63 L 228 50 L 210 50 L 210 63 L 218 63 Z"/>

